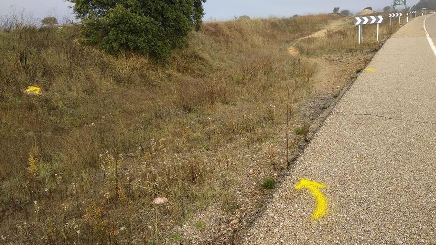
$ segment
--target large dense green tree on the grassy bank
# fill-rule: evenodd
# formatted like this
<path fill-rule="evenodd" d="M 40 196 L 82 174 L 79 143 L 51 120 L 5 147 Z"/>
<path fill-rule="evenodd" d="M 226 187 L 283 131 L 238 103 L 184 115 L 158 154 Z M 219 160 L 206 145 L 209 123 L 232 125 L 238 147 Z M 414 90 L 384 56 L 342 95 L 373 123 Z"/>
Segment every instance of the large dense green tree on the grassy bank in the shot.
<path fill-rule="evenodd" d="M 206 0 L 69 0 L 83 40 L 109 53 L 132 50 L 165 61 L 199 30 Z"/>

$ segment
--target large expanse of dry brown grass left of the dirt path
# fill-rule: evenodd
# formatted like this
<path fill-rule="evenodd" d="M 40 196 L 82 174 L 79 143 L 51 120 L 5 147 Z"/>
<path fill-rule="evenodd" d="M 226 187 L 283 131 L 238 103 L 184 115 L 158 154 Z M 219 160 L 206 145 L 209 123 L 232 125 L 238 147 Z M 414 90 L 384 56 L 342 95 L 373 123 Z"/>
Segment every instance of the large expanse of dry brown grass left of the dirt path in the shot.
<path fill-rule="evenodd" d="M 287 85 L 293 101 L 307 96 L 315 66 L 287 44 L 335 18 L 206 23 L 165 66 L 81 46 L 76 25 L 0 32 L 4 241 L 162 242 L 219 195 L 203 152 L 266 141 Z M 157 196 L 169 204 L 152 206 Z"/>

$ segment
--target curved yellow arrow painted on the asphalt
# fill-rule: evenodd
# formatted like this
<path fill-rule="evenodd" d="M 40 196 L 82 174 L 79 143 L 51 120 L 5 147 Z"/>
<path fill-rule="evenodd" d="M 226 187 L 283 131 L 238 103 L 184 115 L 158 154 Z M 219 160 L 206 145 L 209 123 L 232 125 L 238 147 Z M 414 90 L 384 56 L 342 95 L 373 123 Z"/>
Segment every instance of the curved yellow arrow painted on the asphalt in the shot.
<path fill-rule="evenodd" d="M 297 185 L 295 185 L 296 190 L 301 190 L 303 188 L 308 189 L 315 196 L 317 201 L 317 206 L 315 207 L 315 211 L 312 215 L 314 220 L 317 220 L 327 213 L 327 199 L 320 191 L 320 188 L 326 188 L 327 186 L 309 179 L 301 179 Z"/>

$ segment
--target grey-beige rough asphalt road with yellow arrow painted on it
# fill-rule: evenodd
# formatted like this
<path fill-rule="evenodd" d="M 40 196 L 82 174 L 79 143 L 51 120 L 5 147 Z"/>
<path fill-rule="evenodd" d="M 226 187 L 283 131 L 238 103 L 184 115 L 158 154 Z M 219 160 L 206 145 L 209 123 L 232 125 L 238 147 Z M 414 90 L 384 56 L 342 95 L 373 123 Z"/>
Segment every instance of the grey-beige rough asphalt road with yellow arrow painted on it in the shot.
<path fill-rule="evenodd" d="M 327 117 L 262 216 L 251 244 L 436 244 L 436 15 L 402 27 Z M 327 214 L 302 178 L 327 185 Z"/>

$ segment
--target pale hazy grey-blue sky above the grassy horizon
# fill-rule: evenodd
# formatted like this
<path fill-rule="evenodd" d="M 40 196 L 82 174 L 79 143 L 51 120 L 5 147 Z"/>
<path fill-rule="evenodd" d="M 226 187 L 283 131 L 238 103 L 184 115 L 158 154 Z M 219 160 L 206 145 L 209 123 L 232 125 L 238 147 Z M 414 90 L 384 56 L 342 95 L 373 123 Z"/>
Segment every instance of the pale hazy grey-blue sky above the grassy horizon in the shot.
<path fill-rule="evenodd" d="M 358 12 L 365 7 L 382 9 L 392 0 L 207 0 L 205 20 L 231 19 L 233 16 L 250 17 L 292 16 L 294 14 L 328 13 L 333 7 Z M 418 0 L 408 0 L 413 6 Z M 26 13 L 42 18 L 55 15 L 58 18 L 71 14 L 71 3 L 64 0 L 0 0 L 0 15 L 10 12 L 11 5 L 17 9 L 24 8 Z"/>

